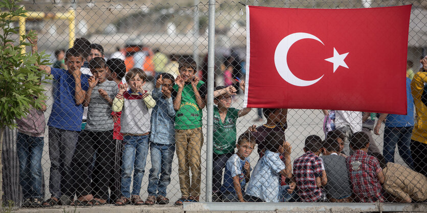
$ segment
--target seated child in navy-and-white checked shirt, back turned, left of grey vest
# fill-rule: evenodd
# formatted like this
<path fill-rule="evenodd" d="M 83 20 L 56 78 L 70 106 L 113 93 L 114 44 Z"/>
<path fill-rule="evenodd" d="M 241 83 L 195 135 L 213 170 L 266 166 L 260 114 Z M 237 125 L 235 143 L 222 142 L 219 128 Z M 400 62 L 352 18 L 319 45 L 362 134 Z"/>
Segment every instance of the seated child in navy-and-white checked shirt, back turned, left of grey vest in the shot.
<path fill-rule="evenodd" d="M 304 152 L 294 161 L 294 176 L 297 183 L 297 194 L 302 202 L 320 202 L 323 189 L 328 182 L 319 154 L 322 150 L 322 139 L 311 135 L 305 139 Z"/>

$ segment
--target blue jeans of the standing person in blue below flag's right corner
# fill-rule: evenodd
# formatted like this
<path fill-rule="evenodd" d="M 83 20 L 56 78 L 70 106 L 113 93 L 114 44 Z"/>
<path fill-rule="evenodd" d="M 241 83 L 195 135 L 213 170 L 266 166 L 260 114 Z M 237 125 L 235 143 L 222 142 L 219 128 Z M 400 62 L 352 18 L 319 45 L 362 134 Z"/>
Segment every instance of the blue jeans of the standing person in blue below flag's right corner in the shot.
<path fill-rule="evenodd" d="M 384 149 L 383 155 L 386 163 L 394 163 L 394 149 L 396 144 L 399 150 L 399 155 L 403 161 L 410 167 L 414 168 L 411 156 L 411 135 L 412 126 L 408 127 L 384 127 Z"/>

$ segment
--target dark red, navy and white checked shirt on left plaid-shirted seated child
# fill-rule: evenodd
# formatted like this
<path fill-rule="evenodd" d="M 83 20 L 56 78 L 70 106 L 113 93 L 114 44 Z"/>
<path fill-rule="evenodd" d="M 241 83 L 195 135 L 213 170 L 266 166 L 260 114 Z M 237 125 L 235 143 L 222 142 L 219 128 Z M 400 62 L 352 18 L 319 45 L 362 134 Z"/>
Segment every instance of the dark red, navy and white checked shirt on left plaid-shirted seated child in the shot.
<path fill-rule="evenodd" d="M 322 197 L 323 190 L 316 185 L 316 177 L 322 176 L 322 163 L 322 159 L 311 151 L 294 161 L 297 193 L 304 202 L 317 202 Z"/>

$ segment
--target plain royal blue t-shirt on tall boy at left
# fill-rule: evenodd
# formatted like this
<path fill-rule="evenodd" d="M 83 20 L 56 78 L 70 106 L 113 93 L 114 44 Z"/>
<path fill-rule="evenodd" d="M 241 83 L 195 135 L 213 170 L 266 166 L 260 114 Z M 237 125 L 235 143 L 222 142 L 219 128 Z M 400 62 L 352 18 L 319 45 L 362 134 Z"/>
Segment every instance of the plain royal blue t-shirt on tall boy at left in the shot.
<path fill-rule="evenodd" d="M 83 105 L 76 104 L 74 98 L 75 82 L 73 74 L 68 70 L 51 68 L 51 75 L 56 81 L 52 112 L 48 126 L 59 129 L 81 131 L 83 117 Z M 87 79 L 89 75 L 81 74 L 81 88 L 87 91 Z"/>

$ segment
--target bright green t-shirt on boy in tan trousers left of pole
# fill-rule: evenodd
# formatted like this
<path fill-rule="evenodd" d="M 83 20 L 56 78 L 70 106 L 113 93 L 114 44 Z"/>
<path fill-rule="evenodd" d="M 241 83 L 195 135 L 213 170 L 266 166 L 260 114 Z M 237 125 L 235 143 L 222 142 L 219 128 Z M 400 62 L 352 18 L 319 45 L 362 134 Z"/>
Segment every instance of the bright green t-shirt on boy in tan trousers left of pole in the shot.
<path fill-rule="evenodd" d="M 197 90 L 201 97 L 204 97 L 206 94 L 206 85 L 202 81 L 199 81 L 197 84 Z M 200 89 L 202 87 L 204 89 Z M 174 97 L 178 91 L 178 85 L 173 85 Z M 203 90 L 203 91 L 201 91 Z M 193 88 L 190 83 L 184 85 L 182 96 L 181 96 L 181 106 L 175 114 L 175 129 L 195 129 L 201 127 L 203 109 L 199 107 L 196 101 L 196 96 L 194 95 Z"/>

